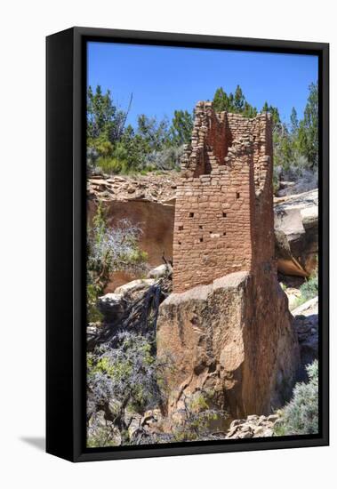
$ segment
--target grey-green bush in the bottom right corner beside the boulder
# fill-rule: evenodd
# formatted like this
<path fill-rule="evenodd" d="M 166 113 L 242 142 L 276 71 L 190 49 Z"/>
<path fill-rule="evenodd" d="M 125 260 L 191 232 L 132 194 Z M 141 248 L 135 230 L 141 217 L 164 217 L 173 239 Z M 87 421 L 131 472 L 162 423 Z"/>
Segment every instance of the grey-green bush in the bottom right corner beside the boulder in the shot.
<path fill-rule="evenodd" d="M 318 432 L 318 362 L 306 367 L 309 382 L 297 383 L 274 429 L 276 436 L 311 435 Z"/>

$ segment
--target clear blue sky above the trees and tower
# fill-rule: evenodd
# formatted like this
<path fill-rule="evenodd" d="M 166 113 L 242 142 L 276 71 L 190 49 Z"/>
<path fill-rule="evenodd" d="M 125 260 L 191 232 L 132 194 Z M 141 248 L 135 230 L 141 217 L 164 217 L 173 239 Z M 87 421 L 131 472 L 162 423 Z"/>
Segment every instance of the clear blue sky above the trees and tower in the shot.
<path fill-rule="evenodd" d="M 132 125 L 139 114 L 171 119 L 175 109 L 191 112 L 218 87 L 234 92 L 237 84 L 252 105 L 260 110 L 267 100 L 288 122 L 292 107 L 301 118 L 317 73 L 318 59 L 309 55 L 88 44 L 88 84 L 109 89 L 124 110 L 132 93 Z"/>

